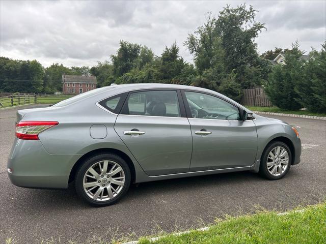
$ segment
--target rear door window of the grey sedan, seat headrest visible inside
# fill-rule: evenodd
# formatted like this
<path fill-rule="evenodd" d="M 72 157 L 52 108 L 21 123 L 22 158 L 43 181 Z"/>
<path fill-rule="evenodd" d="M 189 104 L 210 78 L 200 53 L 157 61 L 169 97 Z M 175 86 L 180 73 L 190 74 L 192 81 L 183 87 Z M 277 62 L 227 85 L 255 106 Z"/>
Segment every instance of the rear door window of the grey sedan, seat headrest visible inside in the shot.
<path fill-rule="evenodd" d="M 181 117 L 175 90 L 149 90 L 131 93 L 122 114 Z"/>

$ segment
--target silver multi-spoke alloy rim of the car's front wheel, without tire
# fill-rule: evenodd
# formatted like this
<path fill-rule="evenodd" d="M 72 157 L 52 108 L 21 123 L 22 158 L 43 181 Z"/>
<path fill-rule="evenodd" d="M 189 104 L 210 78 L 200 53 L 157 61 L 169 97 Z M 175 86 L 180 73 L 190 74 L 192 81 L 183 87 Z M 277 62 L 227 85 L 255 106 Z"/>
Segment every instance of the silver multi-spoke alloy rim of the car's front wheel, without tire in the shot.
<path fill-rule="evenodd" d="M 267 156 L 267 169 L 271 175 L 282 175 L 289 165 L 289 154 L 283 146 L 270 150 Z"/>

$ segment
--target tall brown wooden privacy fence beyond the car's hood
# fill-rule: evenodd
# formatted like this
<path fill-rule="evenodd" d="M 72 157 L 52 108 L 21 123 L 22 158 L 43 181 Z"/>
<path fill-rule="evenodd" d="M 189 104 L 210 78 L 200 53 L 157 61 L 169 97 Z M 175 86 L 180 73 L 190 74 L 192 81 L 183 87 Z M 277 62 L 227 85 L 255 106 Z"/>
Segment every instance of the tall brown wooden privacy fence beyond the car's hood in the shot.
<path fill-rule="evenodd" d="M 267 95 L 262 87 L 253 89 L 243 89 L 241 104 L 244 106 L 271 107 Z"/>

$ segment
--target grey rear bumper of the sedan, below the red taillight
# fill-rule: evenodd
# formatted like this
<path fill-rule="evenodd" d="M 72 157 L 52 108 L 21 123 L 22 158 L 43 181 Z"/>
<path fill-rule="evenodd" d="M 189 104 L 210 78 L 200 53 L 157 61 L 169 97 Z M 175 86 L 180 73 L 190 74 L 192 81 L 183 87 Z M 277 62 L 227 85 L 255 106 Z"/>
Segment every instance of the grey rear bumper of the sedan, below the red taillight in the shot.
<path fill-rule="evenodd" d="M 15 139 L 8 158 L 9 179 L 18 187 L 67 188 L 79 155 L 48 154 L 38 140 Z"/>

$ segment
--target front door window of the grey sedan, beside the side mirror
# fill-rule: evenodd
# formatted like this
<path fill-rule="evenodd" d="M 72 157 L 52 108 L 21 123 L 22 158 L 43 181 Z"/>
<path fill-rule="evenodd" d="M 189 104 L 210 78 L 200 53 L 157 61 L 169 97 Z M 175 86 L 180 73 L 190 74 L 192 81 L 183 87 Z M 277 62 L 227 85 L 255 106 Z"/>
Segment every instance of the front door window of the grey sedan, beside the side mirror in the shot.
<path fill-rule="evenodd" d="M 240 119 L 239 109 L 220 98 L 196 92 L 185 92 L 185 96 L 193 118 Z"/>

